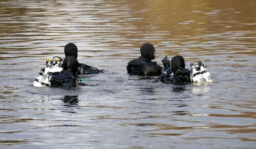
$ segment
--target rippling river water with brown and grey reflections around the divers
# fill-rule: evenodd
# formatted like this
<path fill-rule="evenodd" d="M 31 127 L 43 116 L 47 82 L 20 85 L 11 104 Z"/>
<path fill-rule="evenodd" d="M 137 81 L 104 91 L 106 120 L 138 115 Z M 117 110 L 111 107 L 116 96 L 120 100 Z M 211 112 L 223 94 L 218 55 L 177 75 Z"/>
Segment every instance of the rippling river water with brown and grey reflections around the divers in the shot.
<path fill-rule="evenodd" d="M 256 1 L 1 1 L 0 148 L 255 148 Z M 79 48 L 88 86 L 36 88 L 46 58 Z M 139 48 L 182 55 L 215 83 L 126 74 Z"/>

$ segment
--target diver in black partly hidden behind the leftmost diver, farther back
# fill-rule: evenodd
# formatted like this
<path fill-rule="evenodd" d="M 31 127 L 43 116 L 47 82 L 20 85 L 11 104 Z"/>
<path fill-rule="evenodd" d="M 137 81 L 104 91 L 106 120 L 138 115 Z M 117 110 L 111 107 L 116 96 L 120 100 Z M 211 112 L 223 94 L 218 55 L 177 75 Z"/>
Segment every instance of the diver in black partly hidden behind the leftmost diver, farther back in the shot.
<path fill-rule="evenodd" d="M 64 48 L 65 56 L 73 56 L 74 58 L 78 58 L 78 47 L 74 43 L 67 43 Z M 99 70 L 96 67 L 92 67 L 86 64 L 78 63 L 78 71 L 77 74 L 98 74 L 103 73 L 103 71 Z"/>

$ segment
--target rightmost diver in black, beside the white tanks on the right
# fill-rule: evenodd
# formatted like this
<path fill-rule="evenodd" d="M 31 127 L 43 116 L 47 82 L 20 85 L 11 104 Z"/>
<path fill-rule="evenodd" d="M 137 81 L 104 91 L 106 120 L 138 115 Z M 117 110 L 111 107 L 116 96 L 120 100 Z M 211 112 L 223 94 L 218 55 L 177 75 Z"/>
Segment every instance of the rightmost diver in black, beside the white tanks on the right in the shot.
<path fill-rule="evenodd" d="M 166 69 L 154 82 L 157 82 L 158 80 L 164 83 L 192 82 L 190 77 L 191 71 L 185 69 L 185 60 L 182 56 L 174 56 L 170 63 L 172 68 Z"/>

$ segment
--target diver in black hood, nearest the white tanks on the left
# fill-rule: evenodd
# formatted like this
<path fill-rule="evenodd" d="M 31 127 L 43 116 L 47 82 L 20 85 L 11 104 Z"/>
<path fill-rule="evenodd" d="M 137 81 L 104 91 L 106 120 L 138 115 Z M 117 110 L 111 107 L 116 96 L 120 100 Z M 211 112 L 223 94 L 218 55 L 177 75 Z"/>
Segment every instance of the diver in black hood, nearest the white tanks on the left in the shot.
<path fill-rule="evenodd" d="M 78 78 L 75 76 L 78 71 L 78 60 L 73 56 L 67 56 L 63 63 L 63 70 L 50 78 L 50 84 L 53 87 L 75 87 Z"/>

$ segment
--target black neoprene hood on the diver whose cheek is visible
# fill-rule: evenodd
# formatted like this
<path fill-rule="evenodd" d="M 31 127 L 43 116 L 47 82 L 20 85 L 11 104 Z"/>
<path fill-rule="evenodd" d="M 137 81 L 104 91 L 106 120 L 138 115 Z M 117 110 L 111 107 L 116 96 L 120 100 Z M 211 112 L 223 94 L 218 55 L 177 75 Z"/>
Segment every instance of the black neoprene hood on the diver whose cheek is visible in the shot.
<path fill-rule="evenodd" d="M 149 59 L 155 59 L 154 52 L 156 51 L 155 47 L 150 43 L 144 43 L 140 47 L 140 54 L 142 57 L 146 57 Z"/>

